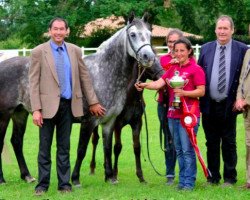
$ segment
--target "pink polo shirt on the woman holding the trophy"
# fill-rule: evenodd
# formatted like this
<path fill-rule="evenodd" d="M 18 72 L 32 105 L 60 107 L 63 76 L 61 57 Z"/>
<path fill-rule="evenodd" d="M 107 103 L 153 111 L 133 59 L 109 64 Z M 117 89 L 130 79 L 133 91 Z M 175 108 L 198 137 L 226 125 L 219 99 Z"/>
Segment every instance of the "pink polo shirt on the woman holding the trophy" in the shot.
<path fill-rule="evenodd" d="M 196 89 L 197 86 L 205 85 L 205 73 L 203 69 L 196 64 L 194 59 L 190 59 L 186 65 L 179 66 L 179 64 L 172 65 L 172 67 L 161 77 L 164 81 L 171 79 L 174 76 L 175 71 L 179 71 L 179 75 L 184 79 L 188 80 L 187 85 L 183 90 L 190 91 Z M 180 118 L 182 116 L 182 109 L 175 109 L 172 107 L 172 101 L 174 99 L 173 89 L 168 85 L 169 92 L 169 118 Z M 195 101 L 199 101 L 198 98 L 184 97 L 189 109 Z M 199 103 L 198 103 L 199 104 Z M 197 117 L 200 117 L 200 107 L 196 109 L 194 113 Z"/>

